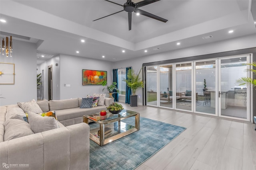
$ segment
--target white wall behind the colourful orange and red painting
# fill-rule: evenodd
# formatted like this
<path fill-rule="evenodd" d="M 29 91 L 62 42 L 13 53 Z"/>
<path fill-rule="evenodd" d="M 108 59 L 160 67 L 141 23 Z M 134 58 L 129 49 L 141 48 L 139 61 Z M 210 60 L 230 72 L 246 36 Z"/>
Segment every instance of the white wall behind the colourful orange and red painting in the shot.
<path fill-rule="evenodd" d="M 102 85 L 82 85 L 82 69 L 107 71 L 108 84 L 112 83 L 112 62 L 60 55 L 60 99 L 86 97 L 103 93 Z M 70 84 L 65 87 L 64 84 Z"/>

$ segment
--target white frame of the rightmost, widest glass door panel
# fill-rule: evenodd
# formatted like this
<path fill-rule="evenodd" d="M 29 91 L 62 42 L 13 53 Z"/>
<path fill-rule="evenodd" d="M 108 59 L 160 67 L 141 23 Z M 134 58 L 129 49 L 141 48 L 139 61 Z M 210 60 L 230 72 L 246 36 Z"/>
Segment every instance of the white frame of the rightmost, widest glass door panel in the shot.
<path fill-rule="evenodd" d="M 246 63 L 250 63 L 250 61 L 252 61 L 252 55 L 251 54 L 245 54 L 245 55 L 236 55 L 236 56 L 229 56 L 229 57 L 222 57 L 222 58 L 218 58 L 218 93 L 220 93 L 221 91 L 221 60 L 226 60 L 226 59 L 234 59 L 234 58 L 241 58 L 241 57 L 246 57 Z M 250 65 L 247 65 L 246 69 L 250 69 Z M 246 73 L 247 77 L 252 77 L 251 76 L 251 72 L 247 72 Z M 246 95 L 246 100 L 247 101 L 251 101 L 252 102 L 252 95 L 250 94 L 251 89 L 247 88 L 247 95 Z M 221 115 L 221 98 L 218 97 L 218 117 L 224 117 L 224 118 L 228 118 L 228 119 L 236 119 L 236 120 L 242 120 L 242 121 L 251 121 L 251 115 L 250 113 L 252 113 L 251 111 L 251 104 L 250 102 L 246 103 L 246 119 L 244 118 L 239 118 L 239 117 L 231 117 L 231 116 L 225 116 L 225 115 Z"/>

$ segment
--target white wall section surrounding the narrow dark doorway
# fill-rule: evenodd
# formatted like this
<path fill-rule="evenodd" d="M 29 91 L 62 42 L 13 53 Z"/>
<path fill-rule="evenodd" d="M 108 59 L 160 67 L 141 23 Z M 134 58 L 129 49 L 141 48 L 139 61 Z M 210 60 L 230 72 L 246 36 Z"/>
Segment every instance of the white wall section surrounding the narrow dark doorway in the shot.
<path fill-rule="evenodd" d="M 44 78 L 42 80 L 44 99 L 48 100 L 48 66 L 50 65 L 52 65 L 52 100 L 60 100 L 60 56 L 52 57 L 37 67 L 37 74 L 42 73 L 42 70 L 44 70 Z"/>

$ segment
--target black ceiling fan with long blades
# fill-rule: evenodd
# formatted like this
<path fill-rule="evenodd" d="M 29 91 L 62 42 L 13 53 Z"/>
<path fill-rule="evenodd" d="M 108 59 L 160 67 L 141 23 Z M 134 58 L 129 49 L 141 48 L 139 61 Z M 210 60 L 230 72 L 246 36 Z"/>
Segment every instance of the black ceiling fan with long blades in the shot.
<path fill-rule="evenodd" d="M 122 12 L 122 11 L 128 12 L 129 31 L 132 29 L 132 12 L 139 13 L 140 15 L 147 16 L 149 18 L 153 18 L 153 19 L 158 20 L 158 21 L 162 21 L 162 22 L 167 22 L 168 21 L 164 18 L 161 18 L 161 17 L 156 16 L 154 14 L 151 14 L 149 12 L 138 9 L 142 6 L 152 4 L 152 3 L 160 1 L 160 0 L 143 0 L 143 1 L 140 1 L 138 3 L 134 3 L 134 2 L 132 2 L 132 0 L 127 0 L 127 2 L 124 3 L 124 5 L 118 4 L 116 2 L 112 2 L 110 0 L 105 0 L 105 1 L 111 2 L 111 3 L 119 5 L 119 6 L 122 6 L 124 8 L 123 10 L 115 12 L 114 14 L 117 14 L 117 13 Z M 111 15 L 114 15 L 114 14 L 110 14 L 108 16 L 111 16 Z M 108 16 L 104 16 L 102 18 L 105 18 L 105 17 L 108 17 Z M 102 18 L 98 18 L 97 20 L 100 20 Z M 96 21 L 96 20 L 93 20 L 93 21 Z"/>

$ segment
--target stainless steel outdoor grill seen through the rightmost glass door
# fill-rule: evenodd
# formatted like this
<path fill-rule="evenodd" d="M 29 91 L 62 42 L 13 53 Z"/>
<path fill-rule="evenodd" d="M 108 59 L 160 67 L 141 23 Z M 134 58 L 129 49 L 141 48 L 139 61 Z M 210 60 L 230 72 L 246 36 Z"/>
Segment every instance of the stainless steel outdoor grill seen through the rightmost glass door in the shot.
<path fill-rule="evenodd" d="M 246 107 L 246 86 L 235 86 L 235 106 Z"/>

